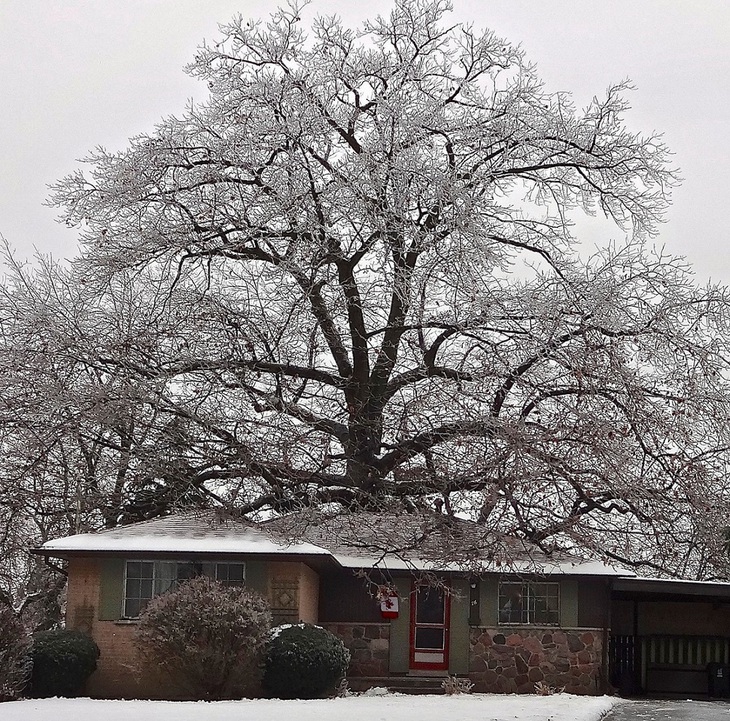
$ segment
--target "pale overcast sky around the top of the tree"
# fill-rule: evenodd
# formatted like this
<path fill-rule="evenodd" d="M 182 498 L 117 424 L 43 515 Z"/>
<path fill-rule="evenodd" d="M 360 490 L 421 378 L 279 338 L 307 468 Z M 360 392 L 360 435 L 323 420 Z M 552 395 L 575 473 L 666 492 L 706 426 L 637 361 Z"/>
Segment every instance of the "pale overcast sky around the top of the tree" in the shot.
<path fill-rule="evenodd" d="M 47 185 L 96 145 L 125 146 L 205 97 L 182 67 L 218 23 L 266 17 L 276 0 L 0 0 L 0 234 L 22 255 L 75 253 L 43 206 Z M 314 0 L 351 24 L 390 0 Z M 664 132 L 684 183 L 657 242 L 698 280 L 730 283 L 730 2 L 454 0 L 455 20 L 521 43 L 550 90 L 579 106 L 629 77 L 628 124 Z M 601 243 L 610 236 L 587 238 Z"/>

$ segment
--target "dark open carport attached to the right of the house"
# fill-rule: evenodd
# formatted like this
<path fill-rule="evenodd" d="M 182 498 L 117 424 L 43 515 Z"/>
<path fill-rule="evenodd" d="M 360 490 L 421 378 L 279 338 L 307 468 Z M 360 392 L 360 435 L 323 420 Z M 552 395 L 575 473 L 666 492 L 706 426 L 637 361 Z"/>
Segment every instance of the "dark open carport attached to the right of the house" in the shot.
<path fill-rule="evenodd" d="M 609 669 L 625 695 L 730 695 L 730 584 L 615 579 Z"/>

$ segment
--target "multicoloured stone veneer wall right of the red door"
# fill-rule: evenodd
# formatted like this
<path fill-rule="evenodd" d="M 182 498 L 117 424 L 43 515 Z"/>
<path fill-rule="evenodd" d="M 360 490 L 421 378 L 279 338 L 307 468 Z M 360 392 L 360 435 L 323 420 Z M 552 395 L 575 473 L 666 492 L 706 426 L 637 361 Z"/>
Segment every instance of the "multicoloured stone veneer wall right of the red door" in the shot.
<path fill-rule="evenodd" d="M 602 658 L 599 629 L 472 628 L 469 678 L 481 692 L 534 693 L 542 682 L 597 694 Z"/>

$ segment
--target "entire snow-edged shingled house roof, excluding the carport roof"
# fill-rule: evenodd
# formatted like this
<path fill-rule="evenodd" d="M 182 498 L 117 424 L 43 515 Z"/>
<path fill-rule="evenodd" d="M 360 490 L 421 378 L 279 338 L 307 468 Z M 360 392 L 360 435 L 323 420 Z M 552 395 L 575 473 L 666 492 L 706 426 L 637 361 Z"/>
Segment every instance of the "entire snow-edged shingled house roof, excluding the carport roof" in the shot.
<path fill-rule="evenodd" d="M 546 554 L 514 537 L 438 514 L 289 516 L 254 524 L 215 511 L 180 513 L 47 541 L 48 556 L 84 554 L 295 555 L 343 568 L 574 576 L 631 576 L 599 560 Z"/>

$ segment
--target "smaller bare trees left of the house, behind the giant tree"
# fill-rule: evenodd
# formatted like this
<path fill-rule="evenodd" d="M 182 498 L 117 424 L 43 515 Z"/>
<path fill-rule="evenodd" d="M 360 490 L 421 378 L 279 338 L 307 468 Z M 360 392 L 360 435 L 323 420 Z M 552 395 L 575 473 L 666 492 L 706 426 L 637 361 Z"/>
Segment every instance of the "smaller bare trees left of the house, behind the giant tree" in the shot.
<path fill-rule="evenodd" d="M 165 415 L 165 383 L 122 362 L 166 337 L 153 289 L 117 278 L 90 294 L 73 271 L 44 258 L 23 265 L 5 250 L 0 604 L 35 626 L 53 616 L 63 584 L 30 548 L 205 505 L 209 461 L 185 422 Z"/>

